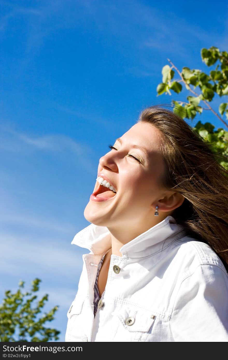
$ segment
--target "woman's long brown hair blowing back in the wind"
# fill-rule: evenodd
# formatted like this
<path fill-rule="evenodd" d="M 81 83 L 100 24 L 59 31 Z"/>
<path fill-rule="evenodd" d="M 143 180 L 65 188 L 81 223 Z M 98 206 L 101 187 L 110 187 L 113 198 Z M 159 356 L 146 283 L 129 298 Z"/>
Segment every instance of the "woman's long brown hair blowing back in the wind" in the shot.
<path fill-rule="evenodd" d="M 228 271 L 228 170 L 212 145 L 175 113 L 156 105 L 144 109 L 139 121 L 160 131 L 166 165 L 161 185 L 185 198 L 171 215 L 189 236 L 209 244 Z"/>

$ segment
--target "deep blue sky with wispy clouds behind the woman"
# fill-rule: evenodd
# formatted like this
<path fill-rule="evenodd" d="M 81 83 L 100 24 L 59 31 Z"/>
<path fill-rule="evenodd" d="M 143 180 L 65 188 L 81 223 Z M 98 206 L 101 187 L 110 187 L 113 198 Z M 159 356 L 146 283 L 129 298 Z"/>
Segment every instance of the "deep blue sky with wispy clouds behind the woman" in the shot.
<path fill-rule="evenodd" d="M 200 50 L 227 50 L 227 18 L 220 0 L 1 1 L 0 302 L 40 278 L 60 341 L 88 252 L 71 241 L 90 224 L 99 158 L 145 107 L 185 100 L 156 96 L 161 68 L 170 58 L 208 72 Z M 198 120 L 223 127 L 210 111 Z"/>

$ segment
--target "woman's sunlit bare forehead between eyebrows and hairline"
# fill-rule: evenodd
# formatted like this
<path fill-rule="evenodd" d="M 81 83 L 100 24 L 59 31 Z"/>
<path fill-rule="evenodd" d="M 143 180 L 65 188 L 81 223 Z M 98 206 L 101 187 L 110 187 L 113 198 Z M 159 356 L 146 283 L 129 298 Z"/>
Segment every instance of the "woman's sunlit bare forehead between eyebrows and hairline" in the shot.
<path fill-rule="evenodd" d="M 161 144 L 160 131 L 147 122 L 138 122 L 121 136 L 123 141 L 130 145 L 139 145 L 146 148 L 148 154 L 158 152 Z"/>

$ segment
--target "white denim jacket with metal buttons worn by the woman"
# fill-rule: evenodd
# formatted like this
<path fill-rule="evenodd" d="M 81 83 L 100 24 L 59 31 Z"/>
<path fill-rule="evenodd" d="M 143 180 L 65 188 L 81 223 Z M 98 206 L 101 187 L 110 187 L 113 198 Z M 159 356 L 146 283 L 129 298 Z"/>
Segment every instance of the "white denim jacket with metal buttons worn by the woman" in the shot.
<path fill-rule="evenodd" d="M 94 282 L 111 248 L 109 230 L 91 224 L 72 241 L 88 248 L 67 312 L 65 341 L 226 342 L 228 274 L 216 253 L 186 235 L 172 216 L 111 255 L 94 318 Z"/>

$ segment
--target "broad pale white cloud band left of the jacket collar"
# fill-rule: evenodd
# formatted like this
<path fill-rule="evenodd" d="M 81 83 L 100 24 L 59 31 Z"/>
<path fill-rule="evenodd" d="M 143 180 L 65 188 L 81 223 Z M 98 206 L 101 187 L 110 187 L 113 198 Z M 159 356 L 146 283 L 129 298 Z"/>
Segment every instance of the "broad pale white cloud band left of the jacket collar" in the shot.
<path fill-rule="evenodd" d="M 80 249 L 70 244 L 69 239 L 62 243 L 54 238 L 40 239 L 35 234 L 18 235 L 0 233 L 1 253 L 0 272 L 23 279 L 23 276 L 35 276 L 61 283 L 64 278 L 70 279 L 79 275 L 82 269 L 82 253 Z M 87 251 L 88 252 L 88 251 Z"/>

